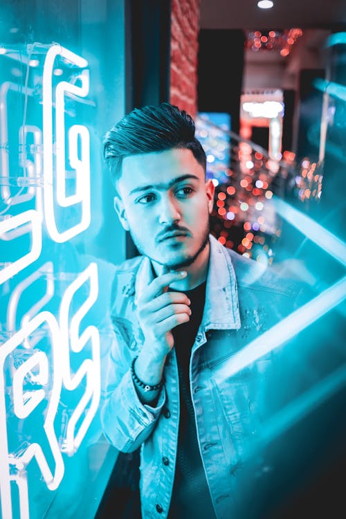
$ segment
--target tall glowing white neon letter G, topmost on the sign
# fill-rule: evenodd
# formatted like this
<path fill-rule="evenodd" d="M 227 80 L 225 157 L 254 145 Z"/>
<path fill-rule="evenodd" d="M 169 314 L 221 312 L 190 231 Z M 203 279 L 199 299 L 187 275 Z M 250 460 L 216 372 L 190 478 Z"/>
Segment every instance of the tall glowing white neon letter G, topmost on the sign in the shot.
<path fill-rule="evenodd" d="M 85 68 L 88 62 L 60 45 L 53 45 L 44 62 L 43 73 L 43 134 L 44 134 L 44 215 L 46 227 L 51 238 L 58 243 L 66 242 L 71 237 L 82 233 L 89 227 L 90 213 L 90 165 L 89 165 L 89 131 L 82 125 L 74 125 L 69 130 L 69 158 L 76 170 L 76 192 L 66 196 L 65 190 L 65 122 L 64 95 L 65 92 L 84 98 L 89 92 L 89 71 L 80 72 L 75 82 L 71 84 L 62 81 L 55 89 L 55 142 L 56 142 L 56 198 L 62 207 L 70 207 L 75 203 L 82 204 L 82 217 L 78 224 L 60 233 L 55 221 L 54 185 L 53 185 L 53 68 L 55 58 L 63 57 L 79 68 Z M 82 158 L 78 159 L 78 136 L 81 140 Z"/>

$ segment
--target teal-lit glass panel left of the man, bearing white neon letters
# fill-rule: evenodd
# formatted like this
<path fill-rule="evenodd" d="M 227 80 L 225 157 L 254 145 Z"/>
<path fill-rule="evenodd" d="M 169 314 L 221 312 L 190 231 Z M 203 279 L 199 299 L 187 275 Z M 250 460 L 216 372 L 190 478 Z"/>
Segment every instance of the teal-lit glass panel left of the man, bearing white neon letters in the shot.
<path fill-rule="evenodd" d="M 102 137 L 125 111 L 123 4 L 0 8 L 3 519 L 92 518 L 116 457 L 98 408 L 125 233 Z"/>

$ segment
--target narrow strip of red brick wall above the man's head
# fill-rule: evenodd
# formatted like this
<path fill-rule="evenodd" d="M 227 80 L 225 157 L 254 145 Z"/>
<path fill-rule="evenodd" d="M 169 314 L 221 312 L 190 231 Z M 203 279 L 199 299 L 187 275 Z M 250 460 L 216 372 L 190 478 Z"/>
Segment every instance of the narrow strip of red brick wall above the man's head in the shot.
<path fill-rule="evenodd" d="M 197 113 L 197 53 L 201 0 L 172 0 L 170 102 Z"/>

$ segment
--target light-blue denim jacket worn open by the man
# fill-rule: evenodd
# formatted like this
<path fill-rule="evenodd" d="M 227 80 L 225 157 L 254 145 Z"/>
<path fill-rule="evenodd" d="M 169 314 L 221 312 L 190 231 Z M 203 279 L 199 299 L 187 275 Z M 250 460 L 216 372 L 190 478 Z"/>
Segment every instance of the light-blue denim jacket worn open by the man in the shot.
<path fill-rule="evenodd" d="M 144 341 L 136 301 L 151 281 L 147 257 L 127 260 L 116 269 L 111 298 L 116 340 L 101 411 L 104 434 L 113 446 L 125 453 L 140 447 L 143 519 L 167 517 L 179 429 L 174 348 L 167 356 L 165 385 L 155 407 L 140 402 L 129 370 Z M 294 282 L 287 284 L 271 268 L 221 246 L 210 235 L 206 303 L 192 347 L 190 391 L 199 449 L 218 519 L 243 517 L 244 501 L 255 500 L 266 473 L 274 470 L 259 453 L 247 470 L 246 459 L 256 452 L 257 432 L 275 407 L 280 372 L 275 371 L 273 352 L 232 376 L 220 379 L 217 372 L 236 352 L 291 313 L 297 295 Z M 244 517 L 251 514 L 245 512 Z"/>

